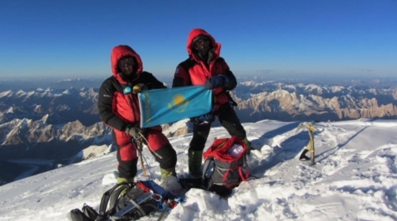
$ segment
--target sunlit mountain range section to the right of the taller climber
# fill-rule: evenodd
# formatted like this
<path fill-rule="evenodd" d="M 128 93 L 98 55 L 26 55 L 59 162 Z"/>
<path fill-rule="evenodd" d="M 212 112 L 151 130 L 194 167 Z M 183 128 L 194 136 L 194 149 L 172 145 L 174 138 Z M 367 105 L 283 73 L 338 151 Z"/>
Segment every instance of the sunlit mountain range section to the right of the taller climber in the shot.
<path fill-rule="evenodd" d="M 232 96 L 243 122 L 396 118 L 397 84 L 351 83 L 341 86 L 245 81 Z"/>

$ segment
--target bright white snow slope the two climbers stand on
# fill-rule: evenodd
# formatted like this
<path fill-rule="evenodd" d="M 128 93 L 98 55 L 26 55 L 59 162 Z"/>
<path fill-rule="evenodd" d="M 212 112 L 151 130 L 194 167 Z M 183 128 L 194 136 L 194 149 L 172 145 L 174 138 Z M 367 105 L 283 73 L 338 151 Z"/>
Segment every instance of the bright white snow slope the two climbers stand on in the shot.
<path fill-rule="evenodd" d="M 191 189 L 165 220 L 397 220 L 397 120 L 352 120 L 315 124 L 316 165 L 296 157 L 309 140 L 300 122 L 244 124 L 261 148 L 249 157 L 257 178 L 243 182 L 227 199 Z M 228 137 L 212 128 L 213 139 Z M 187 170 L 192 134 L 170 139 L 178 153 L 177 173 Z M 144 147 L 150 179 L 158 164 Z M 115 184 L 115 152 L 0 186 L 0 221 L 67 221 L 71 209 L 87 203 L 98 209 Z M 139 164 L 138 164 L 139 165 Z M 145 180 L 138 166 L 137 179 Z M 156 216 L 141 220 L 157 220 Z"/>

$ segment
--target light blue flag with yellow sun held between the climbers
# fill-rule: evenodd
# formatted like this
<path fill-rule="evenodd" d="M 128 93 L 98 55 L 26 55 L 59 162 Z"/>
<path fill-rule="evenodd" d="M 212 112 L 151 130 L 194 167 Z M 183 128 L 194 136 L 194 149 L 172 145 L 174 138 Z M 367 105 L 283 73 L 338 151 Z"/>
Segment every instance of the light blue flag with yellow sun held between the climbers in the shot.
<path fill-rule="evenodd" d="M 203 85 L 143 90 L 138 97 L 141 128 L 173 123 L 212 110 L 212 90 Z"/>

